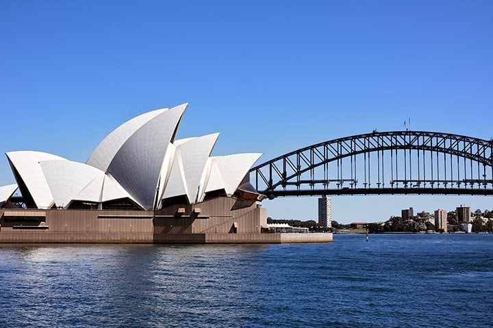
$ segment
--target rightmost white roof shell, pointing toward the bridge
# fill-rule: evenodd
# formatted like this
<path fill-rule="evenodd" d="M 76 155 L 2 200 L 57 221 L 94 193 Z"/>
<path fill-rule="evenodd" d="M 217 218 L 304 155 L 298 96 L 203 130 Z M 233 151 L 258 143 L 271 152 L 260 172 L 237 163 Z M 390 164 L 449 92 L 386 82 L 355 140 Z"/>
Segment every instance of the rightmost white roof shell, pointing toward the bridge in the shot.
<path fill-rule="evenodd" d="M 211 157 L 211 174 L 205 191 L 218 190 L 223 183 L 227 195 L 233 195 L 260 156 L 260 153 L 247 153 Z"/>

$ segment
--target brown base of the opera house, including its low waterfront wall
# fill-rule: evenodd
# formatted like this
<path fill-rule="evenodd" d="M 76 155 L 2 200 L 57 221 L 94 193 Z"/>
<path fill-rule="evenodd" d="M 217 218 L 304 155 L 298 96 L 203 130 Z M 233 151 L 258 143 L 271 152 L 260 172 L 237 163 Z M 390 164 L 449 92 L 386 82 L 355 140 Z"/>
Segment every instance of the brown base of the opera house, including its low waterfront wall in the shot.
<path fill-rule="evenodd" d="M 260 202 L 231 197 L 150 210 L 0 208 L 0 243 L 327 243 L 330 233 L 272 233 Z"/>

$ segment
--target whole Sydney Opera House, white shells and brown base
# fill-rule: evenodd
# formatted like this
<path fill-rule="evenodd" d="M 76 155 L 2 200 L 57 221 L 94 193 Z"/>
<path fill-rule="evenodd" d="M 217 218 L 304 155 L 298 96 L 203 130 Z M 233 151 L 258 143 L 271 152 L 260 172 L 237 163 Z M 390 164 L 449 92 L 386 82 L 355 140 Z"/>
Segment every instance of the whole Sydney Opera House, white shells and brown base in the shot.
<path fill-rule="evenodd" d="M 187 105 L 118 126 L 86 163 L 7 152 L 17 183 L 0 187 L 0 243 L 304 241 L 262 233 L 263 196 L 249 183 L 261 154 L 211 156 L 218 133 L 175 139 Z"/>

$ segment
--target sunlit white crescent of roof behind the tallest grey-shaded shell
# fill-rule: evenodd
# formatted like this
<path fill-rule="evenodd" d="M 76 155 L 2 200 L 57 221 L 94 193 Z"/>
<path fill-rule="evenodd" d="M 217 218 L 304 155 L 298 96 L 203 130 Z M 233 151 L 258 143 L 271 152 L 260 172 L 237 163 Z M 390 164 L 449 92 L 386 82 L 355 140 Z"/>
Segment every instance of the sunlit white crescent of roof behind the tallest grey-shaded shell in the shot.
<path fill-rule="evenodd" d="M 92 154 L 90 154 L 89 159 L 86 164 L 97 167 L 101 171 L 106 172 L 110 166 L 114 155 L 118 150 L 120 150 L 123 143 L 129 139 L 142 125 L 152 120 L 160 113 L 166 111 L 167 108 L 157 109 L 155 111 L 149 111 L 142 115 L 138 115 L 136 118 L 123 123 L 118 128 L 115 128 L 112 133 L 110 133 L 99 145 L 94 149 Z"/>

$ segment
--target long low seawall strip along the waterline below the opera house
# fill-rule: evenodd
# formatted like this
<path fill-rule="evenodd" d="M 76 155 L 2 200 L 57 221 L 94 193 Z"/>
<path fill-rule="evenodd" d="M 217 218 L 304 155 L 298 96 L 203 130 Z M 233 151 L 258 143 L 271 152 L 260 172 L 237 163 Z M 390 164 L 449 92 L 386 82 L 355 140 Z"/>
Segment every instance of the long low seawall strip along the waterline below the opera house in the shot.
<path fill-rule="evenodd" d="M 329 243 L 331 233 L 149 234 L 97 232 L 0 232 L 0 243 Z"/>

